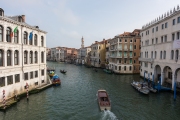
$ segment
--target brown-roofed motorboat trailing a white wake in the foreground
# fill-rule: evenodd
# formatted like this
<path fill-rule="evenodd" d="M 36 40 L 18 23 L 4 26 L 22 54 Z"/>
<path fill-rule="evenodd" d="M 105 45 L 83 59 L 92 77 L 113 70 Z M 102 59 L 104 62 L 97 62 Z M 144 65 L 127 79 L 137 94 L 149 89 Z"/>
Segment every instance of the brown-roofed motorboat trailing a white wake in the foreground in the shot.
<path fill-rule="evenodd" d="M 106 90 L 98 90 L 97 96 L 100 110 L 111 110 L 111 103 Z"/>

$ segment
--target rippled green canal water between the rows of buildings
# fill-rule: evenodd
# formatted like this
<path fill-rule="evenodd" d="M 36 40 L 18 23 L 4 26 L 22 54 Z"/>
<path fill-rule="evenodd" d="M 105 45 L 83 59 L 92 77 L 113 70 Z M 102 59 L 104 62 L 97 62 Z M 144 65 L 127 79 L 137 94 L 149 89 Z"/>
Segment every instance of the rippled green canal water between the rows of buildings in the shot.
<path fill-rule="evenodd" d="M 22 99 L 0 120 L 179 120 L 180 96 L 173 100 L 170 92 L 138 93 L 130 83 L 139 75 L 110 75 L 98 69 L 73 64 L 48 62 L 56 68 L 61 86 L 48 88 Z M 59 72 L 67 70 L 66 75 Z M 101 112 L 97 90 L 105 89 L 111 100 L 111 111 Z"/>

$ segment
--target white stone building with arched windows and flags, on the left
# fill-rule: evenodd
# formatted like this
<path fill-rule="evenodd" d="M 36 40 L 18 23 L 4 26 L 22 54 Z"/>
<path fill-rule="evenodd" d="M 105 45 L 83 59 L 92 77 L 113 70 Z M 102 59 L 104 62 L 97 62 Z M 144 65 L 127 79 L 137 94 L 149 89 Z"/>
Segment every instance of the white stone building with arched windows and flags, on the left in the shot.
<path fill-rule="evenodd" d="M 26 83 L 29 90 L 47 83 L 46 33 L 28 25 L 25 15 L 8 17 L 0 9 L 0 101 L 3 90 L 8 99 L 26 92 Z"/>

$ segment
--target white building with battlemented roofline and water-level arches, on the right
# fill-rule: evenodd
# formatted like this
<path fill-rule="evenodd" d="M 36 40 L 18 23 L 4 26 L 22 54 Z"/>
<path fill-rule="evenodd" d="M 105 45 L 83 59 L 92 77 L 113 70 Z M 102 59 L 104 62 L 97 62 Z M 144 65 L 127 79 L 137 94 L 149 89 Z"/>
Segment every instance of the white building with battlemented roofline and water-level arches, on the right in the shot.
<path fill-rule="evenodd" d="M 180 87 L 180 48 L 174 48 L 180 40 L 180 8 L 174 8 L 142 27 L 140 75 L 161 84 L 174 82 Z"/>

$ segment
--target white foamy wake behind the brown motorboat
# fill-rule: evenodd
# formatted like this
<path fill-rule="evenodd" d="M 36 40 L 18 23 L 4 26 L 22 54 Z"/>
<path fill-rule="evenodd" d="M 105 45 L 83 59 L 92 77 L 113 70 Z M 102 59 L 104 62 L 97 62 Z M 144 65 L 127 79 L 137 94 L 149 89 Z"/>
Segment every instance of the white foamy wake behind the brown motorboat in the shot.
<path fill-rule="evenodd" d="M 113 112 L 106 110 L 106 111 L 102 112 L 102 119 L 101 120 L 118 120 L 118 119 Z"/>

